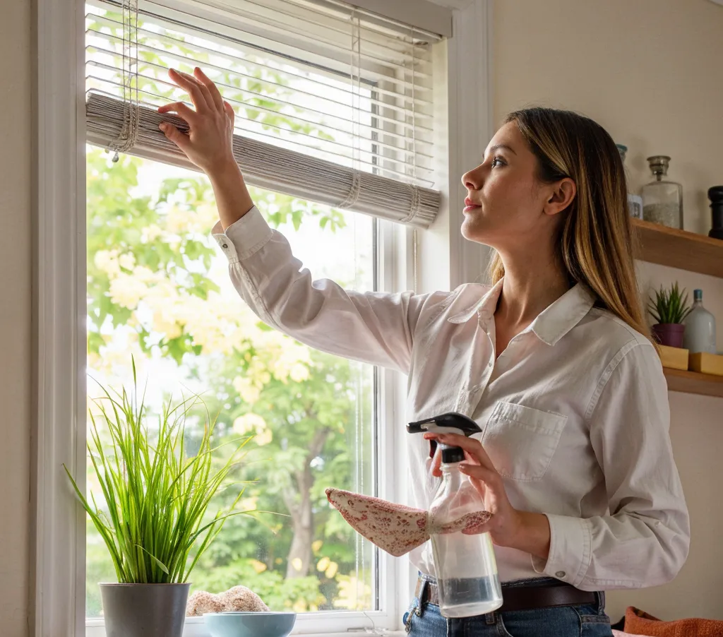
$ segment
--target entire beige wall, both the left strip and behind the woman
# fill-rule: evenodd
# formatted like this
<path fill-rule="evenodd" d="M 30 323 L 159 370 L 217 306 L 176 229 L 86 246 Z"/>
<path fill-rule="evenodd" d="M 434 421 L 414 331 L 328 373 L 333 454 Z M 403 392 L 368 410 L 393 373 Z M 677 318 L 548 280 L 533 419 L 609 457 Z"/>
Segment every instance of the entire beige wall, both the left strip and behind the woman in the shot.
<path fill-rule="evenodd" d="M 27 634 L 30 445 L 30 0 L 0 20 L 0 626 Z M 497 0 L 495 113 L 528 103 L 582 111 L 630 147 L 633 187 L 644 158 L 672 155 L 685 187 L 685 226 L 706 231 L 705 189 L 723 183 L 723 8 L 707 0 Z M 719 317 L 723 282 L 643 265 L 643 285 L 677 278 L 703 287 Z M 690 559 L 675 582 L 609 596 L 659 617 L 723 618 L 723 399 L 671 394 L 671 435 L 693 523 Z"/>

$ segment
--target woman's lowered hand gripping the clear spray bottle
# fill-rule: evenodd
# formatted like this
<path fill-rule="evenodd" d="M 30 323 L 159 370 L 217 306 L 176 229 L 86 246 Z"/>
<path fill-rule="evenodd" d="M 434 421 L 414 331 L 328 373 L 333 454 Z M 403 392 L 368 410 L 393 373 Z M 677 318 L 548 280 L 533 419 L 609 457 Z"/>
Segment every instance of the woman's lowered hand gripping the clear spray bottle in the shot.
<path fill-rule="evenodd" d="M 424 434 L 427 440 L 437 440 L 442 445 L 453 445 L 464 450 L 466 462 L 460 463 L 460 471 L 469 476 L 472 486 L 484 500 L 485 510 L 492 513 L 492 518 L 482 526 L 463 531 L 466 533 L 489 532 L 492 542 L 500 547 L 510 547 L 547 559 L 549 553 L 549 523 L 542 513 L 529 513 L 517 510 L 510 504 L 505 492 L 502 476 L 487 456 L 482 443 L 474 438 L 458 434 Z M 441 454 L 437 448 L 432 471 L 441 476 Z"/>

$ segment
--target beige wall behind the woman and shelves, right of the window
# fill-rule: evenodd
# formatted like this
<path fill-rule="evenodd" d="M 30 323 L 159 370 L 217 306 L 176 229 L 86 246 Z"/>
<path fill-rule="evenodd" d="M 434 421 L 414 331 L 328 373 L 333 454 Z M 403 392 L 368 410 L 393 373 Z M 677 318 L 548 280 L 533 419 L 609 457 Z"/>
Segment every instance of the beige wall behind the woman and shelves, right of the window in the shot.
<path fill-rule="evenodd" d="M 709 0 L 497 0 L 495 117 L 543 104 L 580 111 L 628 145 L 633 189 L 645 158 L 672 156 L 685 189 L 685 228 L 710 227 L 706 189 L 723 184 L 723 7 Z M 723 281 L 641 264 L 644 288 L 675 279 L 703 288 L 719 320 Z M 609 594 L 617 620 L 628 604 L 662 618 L 723 619 L 723 398 L 671 393 L 671 437 L 688 498 L 690 558 L 667 586 Z"/>

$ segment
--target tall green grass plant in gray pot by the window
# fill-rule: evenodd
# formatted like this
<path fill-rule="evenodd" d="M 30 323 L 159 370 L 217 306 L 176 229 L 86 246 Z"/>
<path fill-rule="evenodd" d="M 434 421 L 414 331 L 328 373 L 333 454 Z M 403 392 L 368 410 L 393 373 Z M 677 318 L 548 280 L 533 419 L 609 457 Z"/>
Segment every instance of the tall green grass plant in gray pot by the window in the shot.
<path fill-rule="evenodd" d="M 100 583 L 106 635 L 181 637 L 189 575 L 224 521 L 241 514 L 234 508 L 242 489 L 226 509 L 211 510 L 211 500 L 234 484 L 231 471 L 248 439 L 231 443 L 221 460 L 209 420 L 189 452 L 186 419 L 199 399 L 168 401 L 152 419 L 138 396 L 135 364 L 133 381 L 132 393 L 101 388 L 90 410 L 87 449 L 100 493 L 86 497 L 65 470 L 118 578 Z"/>

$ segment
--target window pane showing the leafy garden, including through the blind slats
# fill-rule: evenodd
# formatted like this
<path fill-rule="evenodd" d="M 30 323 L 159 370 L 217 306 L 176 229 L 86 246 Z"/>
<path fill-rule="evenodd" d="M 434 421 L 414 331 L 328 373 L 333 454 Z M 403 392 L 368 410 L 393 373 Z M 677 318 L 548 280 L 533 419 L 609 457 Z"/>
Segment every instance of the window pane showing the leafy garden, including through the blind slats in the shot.
<path fill-rule="evenodd" d="M 247 20 L 242 33 L 200 11 L 181 23 L 179 11 L 163 2 L 144 2 L 138 14 L 106 0 L 87 4 L 89 112 L 96 99 L 122 105 L 135 93 L 142 107 L 173 101 L 179 90 L 167 69 L 199 65 L 235 107 L 244 138 L 433 186 L 432 89 L 414 77 L 427 80 L 429 47 L 414 43 L 414 33 L 385 37 L 341 5 L 319 12 L 288 0 L 275 4 L 273 14 L 266 4 L 237 4 Z M 318 44 L 281 38 L 284 20 L 288 30 L 323 27 L 325 56 Z M 360 40 L 369 41 L 369 51 Z M 90 123 L 91 142 L 99 142 L 108 119 Z M 151 413 L 183 390 L 202 396 L 218 422 L 219 445 L 253 437 L 234 475 L 245 483 L 239 509 L 249 515 L 226 521 L 192 574 L 192 592 L 244 584 L 271 610 L 382 610 L 380 577 L 388 565 L 324 494 L 335 486 L 375 495 L 381 478 L 392 479 L 377 463 L 379 371 L 312 351 L 257 320 L 208 236 L 217 215 L 204 176 L 142 150 L 145 158 L 104 145 L 87 148 L 89 399 L 98 395 L 97 382 L 132 385 L 133 356 Z M 382 289 L 379 238 L 394 234 L 388 221 L 251 190 L 315 278 Z M 204 409 L 192 413 L 191 435 L 205 419 Z M 90 460 L 87 485 L 98 497 Z M 223 491 L 212 506 L 227 505 L 240 488 Z M 114 569 L 90 521 L 86 533 L 86 612 L 94 634 L 102 625 L 98 582 L 114 581 Z"/>

